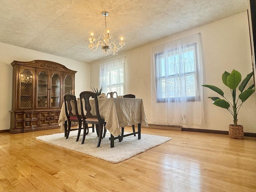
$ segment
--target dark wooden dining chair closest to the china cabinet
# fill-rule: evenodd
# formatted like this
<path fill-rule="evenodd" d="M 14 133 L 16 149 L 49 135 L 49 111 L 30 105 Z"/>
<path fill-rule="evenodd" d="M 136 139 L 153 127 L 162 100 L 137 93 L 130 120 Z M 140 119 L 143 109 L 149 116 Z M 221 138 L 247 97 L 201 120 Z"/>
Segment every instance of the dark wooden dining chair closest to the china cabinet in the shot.
<path fill-rule="evenodd" d="M 68 128 L 65 124 L 65 134 L 66 139 L 68 139 L 70 130 L 71 130 L 71 122 L 78 122 L 78 128 L 74 128 L 72 130 L 78 130 L 78 134 L 76 137 L 76 141 L 79 140 L 80 132 L 82 129 L 82 116 L 78 114 L 76 96 L 71 94 L 64 95 L 64 102 L 65 102 L 65 112 L 68 121 Z"/>

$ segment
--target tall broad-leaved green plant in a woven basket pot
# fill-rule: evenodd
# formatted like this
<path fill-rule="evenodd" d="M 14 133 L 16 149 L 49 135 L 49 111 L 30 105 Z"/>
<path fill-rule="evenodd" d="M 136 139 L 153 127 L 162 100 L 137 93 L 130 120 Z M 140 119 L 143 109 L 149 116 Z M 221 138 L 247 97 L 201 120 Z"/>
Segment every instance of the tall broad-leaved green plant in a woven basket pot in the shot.
<path fill-rule="evenodd" d="M 220 94 L 224 99 L 221 99 L 219 97 L 208 97 L 213 100 L 213 104 L 227 109 L 233 116 L 234 119 L 234 124 L 229 125 L 229 130 L 228 134 L 230 138 L 234 139 L 243 139 L 244 138 L 244 131 L 243 131 L 243 126 L 238 125 L 238 112 L 240 110 L 240 107 L 242 104 L 254 93 L 255 89 L 254 84 L 249 86 L 246 90 L 245 87 L 248 84 L 250 78 L 252 77 L 253 72 L 249 73 L 244 80 L 242 80 L 242 76 L 240 72 L 236 70 L 232 70 L 231 73 L 229 72 L 224 72 L 222 74 L 222 82 L 230 88 L 230 92 L 232 95 L 232 101 L 229 101 L 227 98 L 224 96 L 224 92 L 213 85 L 202 85 L 204 87 L 208 87 L 211 90 L 215 91 L 216 93 Z M 240 86 L 238 87 L 239 83 L 241 82 Z M 238 87 L 238 90 L 240 91 L 240 94 L 238 95 L 238 98 L 236 98 L 238 90 L 236 88 Z"/>

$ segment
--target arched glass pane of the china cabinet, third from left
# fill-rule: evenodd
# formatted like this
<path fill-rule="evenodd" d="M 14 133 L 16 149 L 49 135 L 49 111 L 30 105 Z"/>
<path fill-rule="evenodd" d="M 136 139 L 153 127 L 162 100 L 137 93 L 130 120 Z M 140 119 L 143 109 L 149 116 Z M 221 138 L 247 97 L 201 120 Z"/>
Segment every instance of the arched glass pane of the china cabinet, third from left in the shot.
<path fill-rule="evenodd" d="M 52 74 L 51 77 L 51 107 L 60 107 L 60 75 L 58 73 Z"/>

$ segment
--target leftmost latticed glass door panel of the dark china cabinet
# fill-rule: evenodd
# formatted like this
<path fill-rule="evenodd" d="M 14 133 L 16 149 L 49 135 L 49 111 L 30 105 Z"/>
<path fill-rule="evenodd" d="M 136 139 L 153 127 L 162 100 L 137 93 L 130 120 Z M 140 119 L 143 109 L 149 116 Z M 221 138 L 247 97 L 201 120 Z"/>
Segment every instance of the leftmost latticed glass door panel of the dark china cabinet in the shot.
<path fill-rule="evenodd" d="M 33 74 L 29 69 L 21 69 L 19 108 L 33 108 Z"/>

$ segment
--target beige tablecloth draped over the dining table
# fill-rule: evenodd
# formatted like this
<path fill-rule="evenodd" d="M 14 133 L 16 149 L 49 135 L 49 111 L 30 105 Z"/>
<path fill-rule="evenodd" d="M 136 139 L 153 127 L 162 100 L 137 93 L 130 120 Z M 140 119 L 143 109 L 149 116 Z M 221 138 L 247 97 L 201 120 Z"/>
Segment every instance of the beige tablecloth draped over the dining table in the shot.
<path fill-rule="evenodd" d="M 92 105 L 92 114 L 96 115 L 94 100 L 90 100 Z M 132 126 L 140 123 L 142 126 L 148 126 L 144 105 L 142 99 L 136 98 L 102 98 L 98 99 L 100 116 L 105 119 L 106 129 L 113 135 L 121 134 L 120 127 Z M 77 101 L 78 113 L 80 110 L 80 101 Z M 65 105 L 62 104 L 58 125 L 60 130 L 64 130 L 64 122 L 67 120 Z"/>

